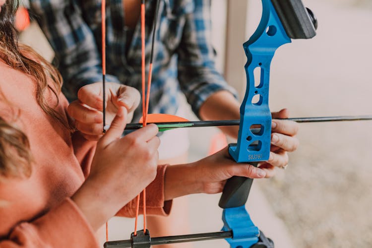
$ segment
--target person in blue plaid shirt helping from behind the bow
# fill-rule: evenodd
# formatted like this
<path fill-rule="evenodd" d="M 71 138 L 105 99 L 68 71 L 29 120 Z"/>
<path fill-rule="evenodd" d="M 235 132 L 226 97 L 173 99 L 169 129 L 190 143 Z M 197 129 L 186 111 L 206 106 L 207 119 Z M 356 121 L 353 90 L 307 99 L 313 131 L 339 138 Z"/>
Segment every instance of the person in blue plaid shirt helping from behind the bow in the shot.
<path fill-rule="evenodd" d="M 118 104 L 111 101 L 113 98 L 119 99 L 119 105 L 133 113 L 135 122 L 141 116 L 141 109 L 136 108 L 138 93 L 123 86 L 141 87 L 140 2 L 109 1 L 106 6 L 108 123 L 118 109 Z M 102 136 L 103 123 L 100 3 L 101 0 L 30 0 L 31 12 L 36 14 L 36 20 L 56 52 L 58 68 L 65 82 L 63 91 L 73 101 L 68 113 L 84 137 L 93 140 Z M 202 120 L 239 119 L 240 103 L 234 90 L 215 68 L 215 52 L 210 39 L 210 0 L 162 0 L 158 11 L 156 0 L 147 0 L 145 11 L 146 44 L 150 44 L 150 33 L 154 31 L 156 51 L 149 113 L 179 115 L 183 110 L 178 94 L 182 92 L 195 115 Z M 156 15 L 159 28 L 153 30 Z M 146 58 L 149 57 L 150 50 L 146 50 Z M 273 113 L 273 117 L 287 118 L 288 112 L 282 110 Z M 267 176 L 273 175 L 275 167 L 286 166 L 287 152 L 298 146 L 296 123 L 276 120 L 272 127 L 272 153 L 270 159 L 261 164 Z M 221 129 L 237 137 L 238 127 Z M 166 132 L 160 139 L 159 163 L 186 162 L 188 140 L 185 130 Z M 176 139 L 178 143 L 174 145 Z M 183 215 L 174 214 L 174 218 Z M 160 221 L 155 228 L 150 228 L 155 236 L 185 232 L 181 226 L 171 223 Z M 161 231 L 156 233 L 155 230 Z"/>

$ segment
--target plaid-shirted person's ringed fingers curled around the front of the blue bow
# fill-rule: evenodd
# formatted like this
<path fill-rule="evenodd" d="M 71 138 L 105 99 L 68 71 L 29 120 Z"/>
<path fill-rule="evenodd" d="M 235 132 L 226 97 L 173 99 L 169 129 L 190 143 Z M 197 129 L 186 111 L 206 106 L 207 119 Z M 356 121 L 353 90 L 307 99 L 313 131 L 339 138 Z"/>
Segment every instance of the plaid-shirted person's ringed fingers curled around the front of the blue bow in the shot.
<path fill-rule="evenodd" d="M 295 151 L 299 146 L 299 140 L 296 137 L 299 124 L 287 120 L 274 120 L 288 117 L 287 109 L 272 113 L 270 158 L 258 164 L 259 168 L 266 171 L 266 177 L 274 175 L 275 167 L 285 168 L 289 160 L 288 152 Z"/>

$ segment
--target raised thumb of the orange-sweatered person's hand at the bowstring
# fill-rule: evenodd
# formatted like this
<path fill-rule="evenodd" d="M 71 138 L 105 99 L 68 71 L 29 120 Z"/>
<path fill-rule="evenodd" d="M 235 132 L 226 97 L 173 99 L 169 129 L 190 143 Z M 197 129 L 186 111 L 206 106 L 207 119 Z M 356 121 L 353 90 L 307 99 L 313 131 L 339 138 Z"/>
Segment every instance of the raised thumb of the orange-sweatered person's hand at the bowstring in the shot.
<path fill-rule="evenodd" d="M 106 134 L 100 139 L 99 145 L 105 147 L 122 136 L 126 125 L 126 116 L 126 109 L 124 107 L 119 107 L 118 113 L 111 123 L 109 130 L 107 130 Z"/>

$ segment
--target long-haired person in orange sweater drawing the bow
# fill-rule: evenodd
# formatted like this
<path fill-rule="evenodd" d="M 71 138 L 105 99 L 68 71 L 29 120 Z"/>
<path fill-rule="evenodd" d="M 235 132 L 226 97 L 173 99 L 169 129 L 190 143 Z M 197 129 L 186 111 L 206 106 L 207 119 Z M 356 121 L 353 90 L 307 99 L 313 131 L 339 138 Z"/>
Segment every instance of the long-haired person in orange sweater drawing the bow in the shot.
<path fill-rule="evenodd" d="M 226 149 L 157 166 L 158 128 L 121 137 L 129 113 L 119 102 L 106 134 L 86 140 L 66 115 L 57 69 L 17 44 L 15 2 L 0 0 L 0 248 L 98 247 L 95 232 L 115 214 L 133 216 L 144 187 L 149 214 L 166 215 L 173 198 L 221 192 L 234 175 L 269 176 Z"/>

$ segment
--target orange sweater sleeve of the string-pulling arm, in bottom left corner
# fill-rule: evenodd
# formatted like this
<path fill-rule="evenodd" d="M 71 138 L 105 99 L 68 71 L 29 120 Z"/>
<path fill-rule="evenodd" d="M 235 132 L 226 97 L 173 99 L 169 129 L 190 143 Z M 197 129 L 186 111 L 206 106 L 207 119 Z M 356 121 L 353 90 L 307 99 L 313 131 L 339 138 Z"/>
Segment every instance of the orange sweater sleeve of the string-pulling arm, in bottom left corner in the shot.
<path fill-rule="evenodd" d="M 98 248 L 95 234 L 75 203 L 65 198 L 62 203 L 33 222 L 21 222 L 0 248 Z"/>

